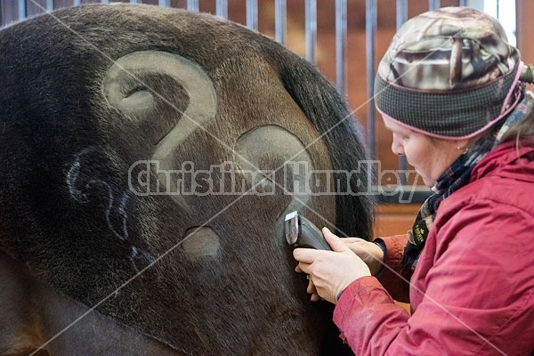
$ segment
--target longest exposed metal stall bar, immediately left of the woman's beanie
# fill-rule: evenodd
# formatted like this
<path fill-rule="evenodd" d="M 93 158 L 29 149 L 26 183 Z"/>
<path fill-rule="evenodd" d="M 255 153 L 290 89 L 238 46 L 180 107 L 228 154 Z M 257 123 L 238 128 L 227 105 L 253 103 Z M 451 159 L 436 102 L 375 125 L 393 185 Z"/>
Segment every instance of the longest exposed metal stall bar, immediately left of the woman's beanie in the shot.
<path fill-rule="evenodd" d="M 368 90 L 368 147 L 369 157 L 376 158 L 376 127 L 375 127 L 375 40 L 376 40 L 376 0 L 365 2 L 365 43 L 366 72 Z"/>

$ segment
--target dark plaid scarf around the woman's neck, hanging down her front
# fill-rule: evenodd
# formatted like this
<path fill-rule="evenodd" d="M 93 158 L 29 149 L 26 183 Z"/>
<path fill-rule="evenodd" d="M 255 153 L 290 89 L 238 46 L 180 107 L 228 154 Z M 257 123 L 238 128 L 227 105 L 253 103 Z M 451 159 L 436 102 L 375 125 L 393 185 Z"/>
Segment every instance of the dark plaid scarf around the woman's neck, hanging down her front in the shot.
<path fill-rule="evenodd" d="M 469 153 L 461 155 L 441 174 L 433 186 L 434 194 L 425 200 L 417 214 L 416 222 L 408 231 L 408 244 L 404 247 L 401 261 L 403 269 L 415 269 L 441 202 L 467 184 L 473 167 L 502 141 L 510 127 L 522 123 L 533 111 L 534 96 L 527 93 L 495 134 L 482 137 Z"/>

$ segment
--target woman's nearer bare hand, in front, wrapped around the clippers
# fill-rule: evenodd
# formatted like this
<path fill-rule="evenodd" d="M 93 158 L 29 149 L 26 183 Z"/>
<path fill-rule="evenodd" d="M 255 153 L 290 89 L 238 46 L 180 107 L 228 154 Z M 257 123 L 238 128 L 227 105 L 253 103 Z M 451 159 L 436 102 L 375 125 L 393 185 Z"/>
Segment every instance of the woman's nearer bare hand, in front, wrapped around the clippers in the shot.
<path fill-rule="evenodd" d="M 332 251 L 315 250 L 312 248 L 295 248 L 293 256 L 298 261 L 297 272 L 310 275 L 308 293 L 312 301 L 319 300 L 318 295 L 336 303 L 336 296 L 344 291 L 354 280 L 370 276 L 368 265 L 347 247 L 343 239 L 338 238 L 327 228 L 322 230 Z"/>

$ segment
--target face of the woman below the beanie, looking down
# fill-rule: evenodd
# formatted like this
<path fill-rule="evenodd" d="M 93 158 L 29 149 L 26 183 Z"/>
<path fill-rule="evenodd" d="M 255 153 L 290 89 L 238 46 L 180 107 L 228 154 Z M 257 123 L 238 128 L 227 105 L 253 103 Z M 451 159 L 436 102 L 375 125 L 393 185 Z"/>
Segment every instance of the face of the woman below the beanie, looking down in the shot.
<path fill-rule="evenodd" d="M 433 187 L 441 174 L 462 154 L 458 150 L 460 142 L 431 138 L 399 125 L 389 117 L 383 118 L 385 127 L 393 134 L 393 153 L 405 155 L 427 187 Z"/>

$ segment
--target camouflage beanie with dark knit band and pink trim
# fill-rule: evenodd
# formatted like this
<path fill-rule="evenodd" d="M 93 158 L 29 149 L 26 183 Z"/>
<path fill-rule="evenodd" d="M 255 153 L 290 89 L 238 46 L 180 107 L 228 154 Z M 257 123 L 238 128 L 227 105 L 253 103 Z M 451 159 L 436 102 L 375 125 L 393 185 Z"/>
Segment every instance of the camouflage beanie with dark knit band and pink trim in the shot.
<path fill-rule="evenodd" d="M 376 108 L 423 134 L 473 137 L 517 104 L 519 57 L 498 20 L 484 12 L 425 12 L 402 26 L 380 62 Z"/>

